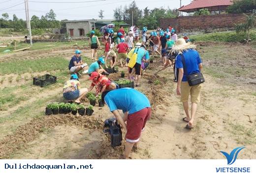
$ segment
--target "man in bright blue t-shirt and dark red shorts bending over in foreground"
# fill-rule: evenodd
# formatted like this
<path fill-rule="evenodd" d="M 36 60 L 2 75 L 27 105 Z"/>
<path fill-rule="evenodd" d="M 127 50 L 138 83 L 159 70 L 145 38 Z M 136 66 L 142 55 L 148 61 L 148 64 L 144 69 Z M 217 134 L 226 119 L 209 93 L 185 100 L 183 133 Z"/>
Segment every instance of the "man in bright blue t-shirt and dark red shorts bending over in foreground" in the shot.
<path fill-rule="evenodd" d="M 132 147 L 138 148 L 141 131 L 144 130 L 151 115 L 149 99 L 132 88 L 122 88 L 103 92 L 102 101 L 105 101 L 119 124 L 126 132 L 125 158 L 128 159 Z M 122 110 L 122 117 L 118 110 Z M 125 124 L 127 122 L 127 124 Z"/>

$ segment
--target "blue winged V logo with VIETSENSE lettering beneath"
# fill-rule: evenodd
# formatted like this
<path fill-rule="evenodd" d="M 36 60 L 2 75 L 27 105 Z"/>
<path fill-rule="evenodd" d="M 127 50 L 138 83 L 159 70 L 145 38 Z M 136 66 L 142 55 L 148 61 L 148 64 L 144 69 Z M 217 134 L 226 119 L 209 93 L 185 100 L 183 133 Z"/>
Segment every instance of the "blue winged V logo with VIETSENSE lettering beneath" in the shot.
<path fill-rule="evenodd" d="M 225 151 L 221 151 L 227 160 L 227 165 L 231 165 L 235 162 L 238 153 L 245 147 L 238 147 L 233 149 L 230 154 Z M 251 173 L 250 167 L 219 167 L 216 168 L 216 173 Z"/>

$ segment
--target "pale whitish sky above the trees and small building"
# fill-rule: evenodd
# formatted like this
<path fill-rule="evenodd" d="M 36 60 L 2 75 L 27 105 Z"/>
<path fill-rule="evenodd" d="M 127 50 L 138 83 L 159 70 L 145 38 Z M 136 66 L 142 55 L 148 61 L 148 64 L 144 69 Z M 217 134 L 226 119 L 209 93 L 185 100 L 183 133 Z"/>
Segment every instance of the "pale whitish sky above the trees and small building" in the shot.
<path fill-rule="evenodd" d="M 182 0 L 182 5 L 187 5 L 191 1 Z M 85 20 L 99 19 L 98 12 L 101 9 L 104 11 L 103 19 L 113 19 L 114 9 L 121 5 L 123 7 L 128 5 L 132 0 L 29 0 L 28 2 L 30 18 L 33 15 L 40 18 L 50 9 L 53 9 L 57 15 L 57 20 Z M 154 9 L 161 6 L 164 8 L 169 6 L 171 9 L 180 7 L 180 0 L 135 0 L 135 2 L 140 9 L 146 7 Z M 19 19 L 26 20 L 24 0 L 0 0 L 0 14 L 2 13 L 8 13 L 9 19 L 12 19 L 13 14 L 15 14 Z"/>

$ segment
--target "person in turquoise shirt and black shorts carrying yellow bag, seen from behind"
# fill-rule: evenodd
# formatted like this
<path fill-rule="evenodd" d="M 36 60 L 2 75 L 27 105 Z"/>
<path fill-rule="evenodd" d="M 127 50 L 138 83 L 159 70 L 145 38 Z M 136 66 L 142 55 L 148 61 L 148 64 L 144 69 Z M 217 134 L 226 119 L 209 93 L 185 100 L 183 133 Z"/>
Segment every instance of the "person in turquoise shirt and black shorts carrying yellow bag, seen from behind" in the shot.
<path fill-rule="evenodd" d="M 135 45 L 135 48 L 130 50 L 130 52 L 128 53 L 128 57 L 131 58 L 131 56 L 137 53 L 137 59 L 136 59 L 136 63 L 134 65 L 133 68 L 128 68 L 129 70 L 129 79 L 131 80 L 131 75 L 134 73 L 134 71 L 132 71 L 133 69 L 135 69 L 135 75 L 136 75 L 136 86 L 139 86 L 139 80 L 141 77 L 141 62 L 145 61 L 148 62 L 149 60 L 149 51 L 146 50 L 145 45 L 141 45 L 141 43 L 137 42 Z M 142 58 L 145 58 L 142 60 Z"/>

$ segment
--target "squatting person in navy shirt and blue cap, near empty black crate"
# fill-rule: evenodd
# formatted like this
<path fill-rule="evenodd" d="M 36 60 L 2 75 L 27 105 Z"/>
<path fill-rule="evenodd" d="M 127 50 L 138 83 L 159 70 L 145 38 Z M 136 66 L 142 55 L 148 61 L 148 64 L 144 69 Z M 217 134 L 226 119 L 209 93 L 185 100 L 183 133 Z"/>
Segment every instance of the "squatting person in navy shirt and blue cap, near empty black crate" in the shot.
<path fill-rule="evenodd" d="M 68 69 L 70 71 L 70 73 L 78 73 L 79 71 L 83 70 L 83 62 L 82 62 L 82 58 L 81 58 L 81 51 L 80 50 L 76 50 L 75 51 L 75 55 L 71 58 L 69 65 L 68 65 Z"/>

